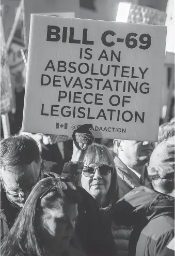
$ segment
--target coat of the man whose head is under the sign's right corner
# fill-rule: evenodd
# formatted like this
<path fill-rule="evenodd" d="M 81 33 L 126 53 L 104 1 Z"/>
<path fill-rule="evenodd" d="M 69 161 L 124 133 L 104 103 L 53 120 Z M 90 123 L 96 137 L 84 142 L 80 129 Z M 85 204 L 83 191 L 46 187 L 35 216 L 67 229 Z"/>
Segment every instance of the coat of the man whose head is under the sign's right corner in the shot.
<path fill-rule="evenodd" d="M 132 189 L 135 189 L 139 186 L 146 186 L 148 188 L 152 188 L 151 181 L 148 176 L 147 166 L 145 168 L 144 180 L 143 183 L 138 181 L 138 178 L 135 173 L 132 172 L 118 157 L 115 157 L 114 163 L 117 170 L 117 177 L 118 177 L 118 197 L 121 198 Z"/>

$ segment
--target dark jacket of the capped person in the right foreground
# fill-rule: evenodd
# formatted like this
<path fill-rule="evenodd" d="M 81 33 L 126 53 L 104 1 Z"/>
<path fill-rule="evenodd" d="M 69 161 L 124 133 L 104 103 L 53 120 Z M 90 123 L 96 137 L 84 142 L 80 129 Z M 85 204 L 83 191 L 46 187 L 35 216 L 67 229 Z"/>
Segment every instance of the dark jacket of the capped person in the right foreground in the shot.
<path fill-rule="evenodd" d="M 115 206 L 116 222 L 135 224 L 130 237 L 131 256 L 174 255 L 174 198 L 141 186 Z M 171 248 L 171 249 L 170 249 Z"/>

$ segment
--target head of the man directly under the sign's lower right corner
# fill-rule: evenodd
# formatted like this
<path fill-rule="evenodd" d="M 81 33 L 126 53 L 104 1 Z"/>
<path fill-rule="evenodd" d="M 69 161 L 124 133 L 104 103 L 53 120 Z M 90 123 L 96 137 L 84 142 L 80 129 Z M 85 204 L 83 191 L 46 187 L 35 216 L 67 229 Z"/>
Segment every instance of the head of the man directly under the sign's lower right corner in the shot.
<path fill-rule="evenodd" d="M 120 160 L 131 168 L 148 163 L 155 147 L 149 141 L 114 139 L 113 142 Z"/>

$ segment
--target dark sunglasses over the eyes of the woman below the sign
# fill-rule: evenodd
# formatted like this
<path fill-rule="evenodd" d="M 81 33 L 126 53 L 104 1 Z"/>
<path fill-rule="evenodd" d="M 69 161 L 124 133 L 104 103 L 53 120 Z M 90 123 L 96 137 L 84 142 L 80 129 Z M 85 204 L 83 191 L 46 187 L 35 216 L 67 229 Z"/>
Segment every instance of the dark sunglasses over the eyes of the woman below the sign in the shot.
<path fill-rule="evenodd" d="M 106 176 L 109 175 L 110 172 L 113 172 L 113 165 L 102 164 L 94 167 L 87 165 L 83 169 L 83 174 L 85 177 L 90 178 L 96 173 L 96 170 L 99 171 L 101 176 Z"/>

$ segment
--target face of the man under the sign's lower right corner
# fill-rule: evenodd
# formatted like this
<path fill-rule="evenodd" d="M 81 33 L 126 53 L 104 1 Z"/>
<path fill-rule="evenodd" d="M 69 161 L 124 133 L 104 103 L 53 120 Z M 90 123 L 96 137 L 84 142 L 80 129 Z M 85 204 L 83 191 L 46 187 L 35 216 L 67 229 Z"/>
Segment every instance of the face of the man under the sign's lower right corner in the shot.
<path fill-rule="evenodd" d="M 132 164 L 146 164 L 149 162 L 155 144 L 149 141 L 121 140 L 121 150 Z"/>

